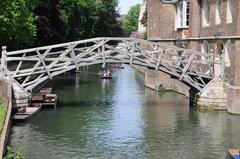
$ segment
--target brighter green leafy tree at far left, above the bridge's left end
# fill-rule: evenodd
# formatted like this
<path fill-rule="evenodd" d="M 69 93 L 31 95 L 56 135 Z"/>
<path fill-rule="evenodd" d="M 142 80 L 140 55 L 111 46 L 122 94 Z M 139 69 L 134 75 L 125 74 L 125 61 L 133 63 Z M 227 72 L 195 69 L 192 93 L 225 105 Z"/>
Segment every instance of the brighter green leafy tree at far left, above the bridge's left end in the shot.
<path fill-rule="evenodd" d="M 0 0 L 0 45 L 8 49 L 31 46 L 36 40 L 34 16 L 29 0 Z"/>

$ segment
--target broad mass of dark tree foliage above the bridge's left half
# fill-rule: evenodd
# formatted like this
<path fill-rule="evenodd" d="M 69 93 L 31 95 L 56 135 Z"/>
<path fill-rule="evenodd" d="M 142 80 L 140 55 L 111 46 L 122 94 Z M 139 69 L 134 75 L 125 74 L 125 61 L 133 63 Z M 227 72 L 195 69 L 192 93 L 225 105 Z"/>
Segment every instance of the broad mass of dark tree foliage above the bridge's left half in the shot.
<path fill-rule="evenodd" d="M 9 50 L 121 36 L 117 5 L 117 0 L 0 0 L 0 45 Z"/>

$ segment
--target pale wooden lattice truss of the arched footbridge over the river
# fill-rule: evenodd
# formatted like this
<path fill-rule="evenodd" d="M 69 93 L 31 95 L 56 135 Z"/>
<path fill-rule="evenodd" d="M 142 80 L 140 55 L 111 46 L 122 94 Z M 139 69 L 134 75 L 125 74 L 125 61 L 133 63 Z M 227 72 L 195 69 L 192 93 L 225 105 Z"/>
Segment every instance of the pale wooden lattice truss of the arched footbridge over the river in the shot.
<path fill-rule="evenodd" d="M 1 72 L 24 91 L 64 72 L 88 65 L 125 63 L 163 71 L 201 91 L 214 77 L 213 54 L 133 38 L 94 38 L 7 52 Z"/>

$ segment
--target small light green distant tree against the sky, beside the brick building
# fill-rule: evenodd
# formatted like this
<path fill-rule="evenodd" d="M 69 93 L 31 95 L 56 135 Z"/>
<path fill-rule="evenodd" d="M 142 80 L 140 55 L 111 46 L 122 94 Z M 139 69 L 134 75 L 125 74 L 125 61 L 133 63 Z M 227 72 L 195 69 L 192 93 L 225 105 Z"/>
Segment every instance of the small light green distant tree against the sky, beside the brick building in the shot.
<path fill-rule="evenodd" d="M 131 34 L 133 31 L 137 31 L 138 29 L 140 6 L 140 4 L 132 6 L 123 19 L 122 26 L 127 35 Z"/>

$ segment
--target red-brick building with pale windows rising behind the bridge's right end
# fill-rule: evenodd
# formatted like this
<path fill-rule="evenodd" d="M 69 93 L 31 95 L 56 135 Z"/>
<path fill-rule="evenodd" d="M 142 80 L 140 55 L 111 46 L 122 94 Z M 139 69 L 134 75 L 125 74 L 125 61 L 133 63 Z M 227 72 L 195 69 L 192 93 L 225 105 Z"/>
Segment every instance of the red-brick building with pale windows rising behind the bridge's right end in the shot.
<path fill-rule="evenodd" d="M 229 111 L 240 114 L 240 0 L 148 0 L 147 6 L 149 40 L 224 53 Z"/>

